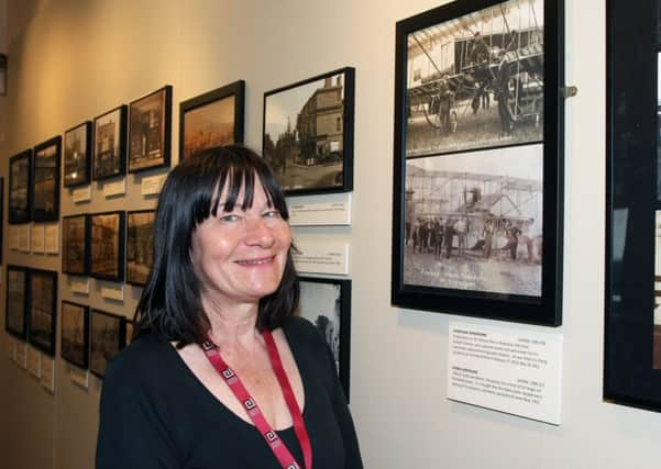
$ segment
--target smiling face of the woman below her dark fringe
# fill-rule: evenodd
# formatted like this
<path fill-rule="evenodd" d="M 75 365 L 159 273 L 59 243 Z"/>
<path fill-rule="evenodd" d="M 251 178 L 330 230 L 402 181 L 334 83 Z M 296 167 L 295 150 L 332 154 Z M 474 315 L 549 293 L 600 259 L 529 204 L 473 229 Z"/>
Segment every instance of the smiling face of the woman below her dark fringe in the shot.
<path fill-rule="evenodd" d="M 258 178 L 252 208 L 241 210 L 242 188 L 234 210 L 223 212 L 228 186 L 220 194 L 217 215 L 192 233 L 192 266 L 203 300 L 220 306 L 257 303 L 280 283 L 291 244 L 289 224 L 268 206 Z"/>

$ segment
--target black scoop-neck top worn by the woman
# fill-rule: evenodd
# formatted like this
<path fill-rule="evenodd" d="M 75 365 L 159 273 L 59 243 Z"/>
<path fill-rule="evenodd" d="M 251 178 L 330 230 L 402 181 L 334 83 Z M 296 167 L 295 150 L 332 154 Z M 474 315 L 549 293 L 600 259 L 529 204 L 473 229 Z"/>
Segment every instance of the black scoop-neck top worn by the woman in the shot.
<path fill-rule="evenodd" d="M 362 468 L 332 355 L 309 322 L 283 328 L 305 392 L 315 469 Z M 219 379 L 221 379 L 219 377 Z M 277 432 L 296 460 L 294 427 Z M 97 469 L 280 468 L 257 429 L 225 407 L 165 339 L 146 335 L 112 360 L 103 379 Z"/>

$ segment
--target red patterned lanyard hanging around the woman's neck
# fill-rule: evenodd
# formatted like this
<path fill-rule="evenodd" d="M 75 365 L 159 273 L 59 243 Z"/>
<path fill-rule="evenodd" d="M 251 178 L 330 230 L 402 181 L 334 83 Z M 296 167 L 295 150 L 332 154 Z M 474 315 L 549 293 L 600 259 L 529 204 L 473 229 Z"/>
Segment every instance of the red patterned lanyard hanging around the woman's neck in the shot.
<path fill-rule="evenodd" d="M 273 371 L 275 372 L 278 383 L 280 384 L 280 390 L 283 391 L 285 402 L 287 403 L 287 407 L 291 414 L 291 420 L 294 421 L 294 432 L 296 432 L 296 437 L 298 438 L 298 443 L 300 444 L 300 448 L 302 450 L 306 469 L 312 469 L 312 448 L 310 446 L 310 438 L 302 421 L 300 409 L 298 409 L 298 403 L 294 397 L 291 384 L 289 383 L 287 373 L 283 368 L 280 355 L 278 354 L 278 349 L 275 346 L 275 342 L 271 335 L 271 332 L 264 331 L 262 336 L 264 337 L 266 348 L 268 349 L 271 366 L 273 367 Z M 280 440 L 277 433 L 275 433 L 273 427 L 268 425 L 268 422 L 266 422 L 266 418 L 264 418 L 264 414 L 257 406 L 257 403 L 250 395 L 236 373 L 234 373 L 234 371 L 222 359 L 218 350 L 218 346 L 211 340 L 207 339 L 207 342 L 202 343 L 202 350 L 205 350 L 205 354 L 207 355 L 207 358 L 211 365 L 213 365 L 213 368 L 216 368 L 216 370 L 230 387 L 236 399 L 239 399 L 239 402 L 243 404 L 245 412 L 251 417 L 283 468 L 301 469 L 298 462 L 296 462 L 296 459 L 294 459 L 294 456 L 291 456 L 291 453 L 289 453 L 285 446 L 285 443 Z"/>

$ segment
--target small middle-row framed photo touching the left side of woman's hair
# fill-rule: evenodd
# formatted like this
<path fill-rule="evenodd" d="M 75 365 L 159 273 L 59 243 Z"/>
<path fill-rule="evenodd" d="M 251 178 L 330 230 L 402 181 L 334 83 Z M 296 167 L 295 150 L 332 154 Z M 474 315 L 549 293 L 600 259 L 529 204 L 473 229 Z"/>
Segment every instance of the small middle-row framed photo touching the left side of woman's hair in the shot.
<path fill-rule="evenodd" d="M 126 212 L 126 282 L 145 286 L 154 258 L 154 210 Z"/>

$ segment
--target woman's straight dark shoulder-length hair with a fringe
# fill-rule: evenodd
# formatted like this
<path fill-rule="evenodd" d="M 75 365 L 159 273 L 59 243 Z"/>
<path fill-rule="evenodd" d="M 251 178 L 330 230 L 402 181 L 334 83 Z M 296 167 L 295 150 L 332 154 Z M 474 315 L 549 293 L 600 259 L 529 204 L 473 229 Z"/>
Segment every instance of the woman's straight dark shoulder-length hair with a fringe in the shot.
<path fill-rule="evenodd" d="M 289 220 L 285 197 L 266 161 L 243 146 L 212 148 L 185 159 L 167 176 L 154 221 L 154 261 L 135 310 L 135 334 L 155 333 L 167 340 L 201 344 L 207 339 L 209 319 L 202 310 L 201 283 L 190 260 L 191 235 L 218 211 L 252 206 L 255 183 L 261 183 L 268 205 Z M 220 193 L 227 187 L 224 206 Z M 243 200 L 238 200 L 244 188 Z M 260 332 L 282 326 L 298 305 L 299 284 L 287 254 L 278 289 L 260 300 L 256 327 Z"/>

